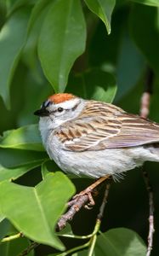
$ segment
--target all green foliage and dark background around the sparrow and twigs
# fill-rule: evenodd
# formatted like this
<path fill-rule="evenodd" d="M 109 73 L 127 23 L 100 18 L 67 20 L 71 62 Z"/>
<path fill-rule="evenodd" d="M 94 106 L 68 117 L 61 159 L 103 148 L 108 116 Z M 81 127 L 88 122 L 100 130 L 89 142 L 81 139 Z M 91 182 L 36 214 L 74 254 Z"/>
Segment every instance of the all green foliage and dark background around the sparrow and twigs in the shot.
<path fill-rule="evenodd" d="M 26 236 L 0 244 L 1 255 L 18 255 L 30 244 L 28 239 L 51 246 L 37 247 L 28 255 L 57 255 L 54 248 L 76 252 L 79 245 L 84 249 L 84 241 L 62 237 L 61 242 L 54 228 L 75 193 L 72 183 L 80 191 L 92 181 L 77 177 L 71 183 L 56 172 L 60 169 L 44 152 L 33 113 L 48 95 L 63 91 L 113 101 L 139 113 L 150 69 L 150 118 L 159 122 L 159 2 L 1 0 L 0 27 L 0 237 L 19 231 Z M 157 256 L 158 164 L 146 163 L 145 168 L 154 189 L 151 255 Z M 91 212 L 82 209 L 75 216 L 71 232 L 93 232 L 101 199 L 102 191 Z M 148 214 L 141 172 L 130 171 L 111 187 L 101 225 L 104 233 L 97 238 L 94 255 L 145 255 Z M 88 248 L 72 255 L 88 255 Z"/>

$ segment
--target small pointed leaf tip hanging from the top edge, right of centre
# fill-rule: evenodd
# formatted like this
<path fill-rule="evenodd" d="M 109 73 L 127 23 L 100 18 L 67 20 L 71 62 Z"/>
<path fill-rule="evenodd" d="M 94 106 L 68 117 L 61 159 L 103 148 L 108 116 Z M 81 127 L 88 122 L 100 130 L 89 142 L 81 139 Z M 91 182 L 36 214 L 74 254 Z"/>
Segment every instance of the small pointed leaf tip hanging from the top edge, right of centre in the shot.
<path fill-rule="evenodd" d="M 99 16 L 106 26 L 108 34 L 111 33 L 111 15 L 115 7 L 116 0 L 84 0 L 95 15 Z"/>

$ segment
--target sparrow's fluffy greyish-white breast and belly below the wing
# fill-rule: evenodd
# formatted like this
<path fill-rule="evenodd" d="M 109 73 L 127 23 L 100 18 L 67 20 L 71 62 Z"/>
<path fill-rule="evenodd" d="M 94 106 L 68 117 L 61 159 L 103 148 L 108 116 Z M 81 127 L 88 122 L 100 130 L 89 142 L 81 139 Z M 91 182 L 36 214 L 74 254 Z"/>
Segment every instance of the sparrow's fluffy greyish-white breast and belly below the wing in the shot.
<path fill-rule="evenodd" d="M 61 147 L 59 140 L 51 134 L 48 137 L 47 152 L 64 172 L 78 176 L 103 177 L 126 172 L 141 166 L 145 160 L 159 161 L 159 153 L 155 154 L 151 146 L 130 148 L 105 148 L 104 150 L 74 152 Z"/>

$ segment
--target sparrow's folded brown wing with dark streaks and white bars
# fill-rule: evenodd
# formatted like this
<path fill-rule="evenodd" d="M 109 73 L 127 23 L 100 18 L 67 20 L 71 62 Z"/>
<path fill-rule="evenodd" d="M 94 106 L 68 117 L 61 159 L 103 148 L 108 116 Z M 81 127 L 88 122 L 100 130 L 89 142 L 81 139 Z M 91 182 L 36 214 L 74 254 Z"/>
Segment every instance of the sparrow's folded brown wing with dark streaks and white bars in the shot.
<path fill-rule="evenodd" d="M 102 114 L 96 108 L 95 114 L 82 114 L 60 126 L 56 134 L 65 150 L 75 152 L 127 148 L 159 142 L 159 125 L 120 108 L 112 113 L 103 110 Z"/>

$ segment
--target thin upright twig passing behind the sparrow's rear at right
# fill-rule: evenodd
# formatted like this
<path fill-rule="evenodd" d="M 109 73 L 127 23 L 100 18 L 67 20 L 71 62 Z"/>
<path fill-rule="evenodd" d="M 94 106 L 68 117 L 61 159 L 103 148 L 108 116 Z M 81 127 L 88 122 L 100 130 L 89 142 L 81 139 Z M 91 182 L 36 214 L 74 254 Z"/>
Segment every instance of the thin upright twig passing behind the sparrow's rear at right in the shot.
<path fill-rule="evenodd" d="M 154 74 L 150 68 L 147 69 L 147 73 L 145 76 L 145 91 L 143 96 L 141 97 L 141 106 L 140 106 L 140 116 L 143 118 L 147 118 L 149 115 L 150 108 L 150 95 L 152 94 L 152 84 L 153 84 Z M 149 235 L 148 235 L 148 246 L 146 256 L 150 256 L 150 252 L 152 250 L 153 245 L 153 234 L 155 232 L 154 229 L 154 202 L 153 202 L 153 191 L 150 185 L 150 179 L 148 177 L 148 173 L 145 171 L 143 167 L 143 177 L 145 180 L 145 187 L 147 189 L 148 197 L 149 197 Z"/>

